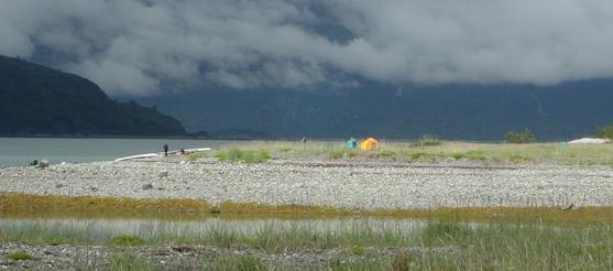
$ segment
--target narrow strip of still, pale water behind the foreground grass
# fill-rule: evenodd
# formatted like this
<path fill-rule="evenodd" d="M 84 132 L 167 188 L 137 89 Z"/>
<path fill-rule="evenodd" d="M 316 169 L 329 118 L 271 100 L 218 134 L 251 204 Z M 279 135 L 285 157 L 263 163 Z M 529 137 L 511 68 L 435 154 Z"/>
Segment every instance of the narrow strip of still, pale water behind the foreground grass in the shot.
<path fill-rule="evenodd" d="M 315 232 L 337 232 L 351 230 L 405 231 L 423 228 L 424 221 L 413 219 L 385 219 L 380 217 L 342 217 L 327 219 L 283 219 L 250 218 L 237 219 L 210 217 L 199 220 L 164 219 L 109 219 L 109 218 L 0 218 L 0 228 L 39 230 L 70 230 L 90 236 L 205 236 L 222 230 L 225 234 L 255 235 L 263 230 L 309 230 Z"/>

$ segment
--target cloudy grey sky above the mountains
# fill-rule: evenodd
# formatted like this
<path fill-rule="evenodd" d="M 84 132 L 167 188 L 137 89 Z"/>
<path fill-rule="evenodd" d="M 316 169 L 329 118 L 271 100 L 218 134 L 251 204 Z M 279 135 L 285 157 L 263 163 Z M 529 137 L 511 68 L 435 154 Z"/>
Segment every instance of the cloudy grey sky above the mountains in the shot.
<path fill-rule="evenodd" d="M 2 0 L 0 54 L 52 63 L 111 96 L 555 85 L 613 77 L 613 1 Z"/>

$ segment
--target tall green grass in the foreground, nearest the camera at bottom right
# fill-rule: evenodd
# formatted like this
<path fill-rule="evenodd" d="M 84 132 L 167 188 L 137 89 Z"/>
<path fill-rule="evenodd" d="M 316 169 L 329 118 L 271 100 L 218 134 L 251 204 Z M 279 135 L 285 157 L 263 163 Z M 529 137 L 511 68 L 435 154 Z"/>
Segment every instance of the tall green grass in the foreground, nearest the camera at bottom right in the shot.
<path fill-rule="evenodd" d="M 37 232 L 48 232 L 42 230 Z M 34 232 L 35 234 L 35 232 Z M 358 223 L 341 230 L 317 226 L 265 225 L 254 234 L 217 228 L 196 236 L 150 236 L 154 245 L 194 243 L 230 248 L 216 256 L 208 270 L 272 270 L 258 253 L 236 254 L 251 248 L 282 257 L 343 248 L 322 270 L 610 270 L 613 268 L 613 229 L 600 225 L 543 225 L 523 223 L 467 224 L 427 221 L 424 227 L 394 228 Z M 39 234 L 40 235 L 40 234 Z M 147 236 L 149 232 L 143 234 Z M 23 236 L 26 238 L 26 236 Z M 141 237 L 146 240 L 146 237 Z M 1 240 L 6 240 L 2 237 Z M 22 241 L 29 241 L 22 239 Z M 153 270 L 161 265 L 150 254 L 111 254 L 112 270 Z M 388 251 L 388 252 L 385 252 Z M 316 252 L 317 253 L 317 252 Z M 207 269 L 205 265 L 202 269 Z"/>

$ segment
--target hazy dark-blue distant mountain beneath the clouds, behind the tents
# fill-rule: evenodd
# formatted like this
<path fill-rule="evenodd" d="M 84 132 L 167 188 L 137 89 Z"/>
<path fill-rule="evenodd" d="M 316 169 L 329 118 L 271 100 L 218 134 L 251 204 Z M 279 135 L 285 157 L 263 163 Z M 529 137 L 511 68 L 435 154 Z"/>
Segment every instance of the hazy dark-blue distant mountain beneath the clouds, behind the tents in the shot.
<path fill-rule="evenodd" d="M 274 137 L 502 141 L 528 128 L 538 141 L 592 136 L 613 121 L 613 79 L 556 86 L 363 83 L 344 89 L 221 89 L 141 98 L 187 130 L 243 129 Z"/>

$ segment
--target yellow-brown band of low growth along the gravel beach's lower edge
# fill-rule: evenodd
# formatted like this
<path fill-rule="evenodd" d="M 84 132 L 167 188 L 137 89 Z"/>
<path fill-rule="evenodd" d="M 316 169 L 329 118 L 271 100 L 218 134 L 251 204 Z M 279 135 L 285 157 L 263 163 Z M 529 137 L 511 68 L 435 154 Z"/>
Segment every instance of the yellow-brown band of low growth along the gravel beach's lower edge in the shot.
<path fill-rule="evenodd" d="M 495 203 L 493 203 L 495 204 Z M 286 216 L 383 216 L 413 219 L 451 219 L 463 221 L 539 221 L 558 223 L 613 223 L 613 206 L 583 206 L 579 210 L 565 212 L 559 207 L 438 207 L 434 209 L 374 209 L 352 210 L 327 206 L 308 205 L 265 205 L 256 203 L 222 202 L 211 205 L 194 199 L 145 199 L 107 197 L 66 197 L 57 195 L 0 194 L 0 216 L 20 217 L 57 214 L 59 217 L 124 217 L 124 218 L 165 218 L 201 219 L 211 215 L 286 215 Z M 48 217 L 48 216 L 47 216 Z M 53 216 L 52 216 L 53 217 Z M 48 240 L 54 242 L 56 240 Z"/>

